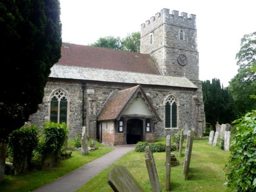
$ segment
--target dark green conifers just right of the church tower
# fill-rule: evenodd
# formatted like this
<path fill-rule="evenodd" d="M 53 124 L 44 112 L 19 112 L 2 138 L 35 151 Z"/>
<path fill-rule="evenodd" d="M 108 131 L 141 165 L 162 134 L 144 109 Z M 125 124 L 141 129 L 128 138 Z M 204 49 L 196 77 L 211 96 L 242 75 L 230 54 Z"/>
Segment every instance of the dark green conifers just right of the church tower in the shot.
<path fill-rule="evenodd" d="M 215 129 L 217 121 L 231 123 L 234 120 L 233 100 L 227 88 L 221 87 L 219 79 L 202 82 L 204 111 L 206 122 Z"/>

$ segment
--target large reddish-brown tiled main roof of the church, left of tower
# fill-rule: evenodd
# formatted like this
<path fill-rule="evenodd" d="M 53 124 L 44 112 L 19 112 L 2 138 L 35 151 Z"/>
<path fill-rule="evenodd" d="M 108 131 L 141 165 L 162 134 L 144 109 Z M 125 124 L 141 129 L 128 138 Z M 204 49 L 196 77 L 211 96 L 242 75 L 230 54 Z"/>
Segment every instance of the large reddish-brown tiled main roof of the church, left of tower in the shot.
<path fill-rule="evenodd" d="M 149 54 L 62 43 L 63 66 L 78 66 L 138 73 L 160 74 Z"/>

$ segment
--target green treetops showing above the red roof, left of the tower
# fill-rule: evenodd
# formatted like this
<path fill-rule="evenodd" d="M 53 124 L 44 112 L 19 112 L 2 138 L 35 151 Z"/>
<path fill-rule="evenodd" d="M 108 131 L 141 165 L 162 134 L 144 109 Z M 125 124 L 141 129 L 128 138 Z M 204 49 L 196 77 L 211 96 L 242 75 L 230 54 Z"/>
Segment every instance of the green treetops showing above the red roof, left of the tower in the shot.
<path fill-rule="evenodd" d="M 140 32 L 128 34 L 125 38 L 106 36 L 100 37 L 96 42 L 90 44 L 94 47 L 103 47 L 130 52 L 140 52 Z"/>

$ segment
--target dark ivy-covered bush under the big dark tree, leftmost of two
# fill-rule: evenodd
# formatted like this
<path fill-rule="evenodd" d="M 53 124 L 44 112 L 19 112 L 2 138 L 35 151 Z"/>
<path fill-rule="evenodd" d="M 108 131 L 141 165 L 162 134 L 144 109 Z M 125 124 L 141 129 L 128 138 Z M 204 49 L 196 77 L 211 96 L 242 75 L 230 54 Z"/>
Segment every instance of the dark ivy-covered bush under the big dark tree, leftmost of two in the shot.
<path fill-rule="evenodd" d="M 37 125 L 23 126 L 10 134 L 9 147 L 15 175 L 26 172 L 31 166 L 33 150 L 38 143 L 37 131 Z"/>

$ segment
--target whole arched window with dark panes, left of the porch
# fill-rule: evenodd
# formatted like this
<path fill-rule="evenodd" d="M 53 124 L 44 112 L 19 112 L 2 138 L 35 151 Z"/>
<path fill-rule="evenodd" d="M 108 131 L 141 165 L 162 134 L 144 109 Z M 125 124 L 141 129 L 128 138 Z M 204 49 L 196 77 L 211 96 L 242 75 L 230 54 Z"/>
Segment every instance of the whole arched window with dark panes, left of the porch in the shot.
<path fill-rule="evenodd" d="M 55 123 L 67 123 L 68 97 L 65 91 L 54 91 L 50 99 L 50 121 Z"/>

